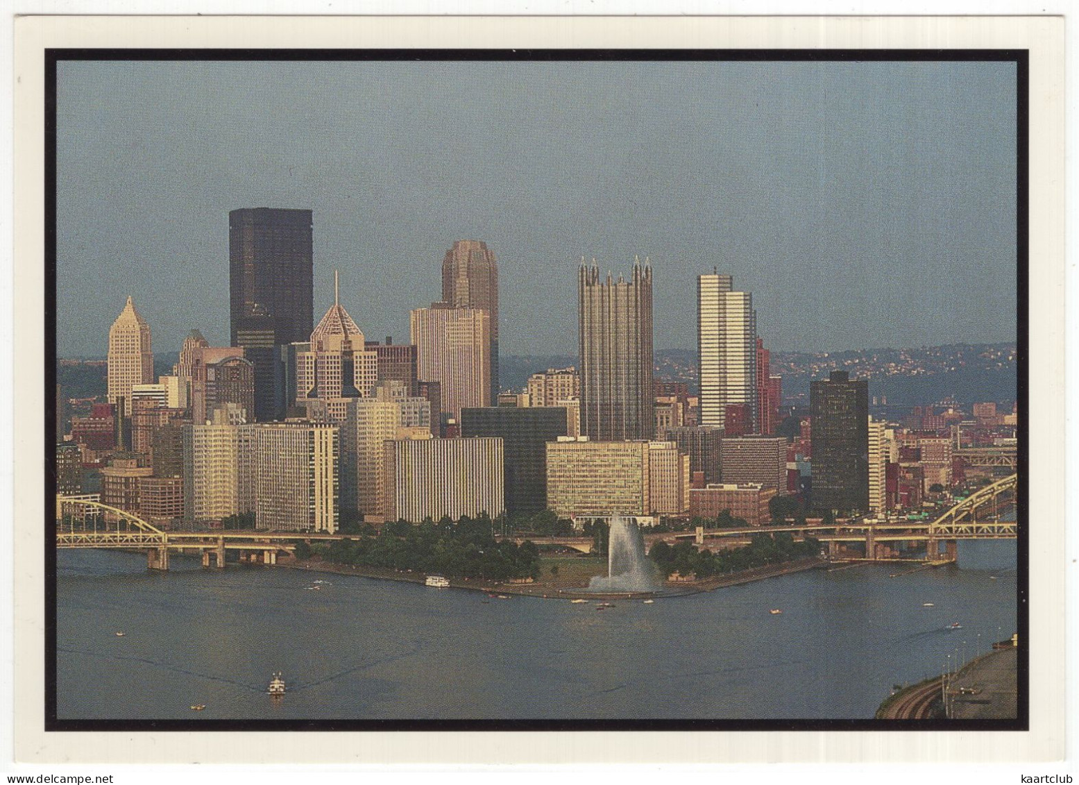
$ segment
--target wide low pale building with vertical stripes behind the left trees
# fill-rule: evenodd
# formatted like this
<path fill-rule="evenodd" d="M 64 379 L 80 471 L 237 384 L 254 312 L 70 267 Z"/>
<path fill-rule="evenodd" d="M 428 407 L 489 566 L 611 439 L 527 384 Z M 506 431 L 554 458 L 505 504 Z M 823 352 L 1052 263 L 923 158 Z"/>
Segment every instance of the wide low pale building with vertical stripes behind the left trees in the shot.
<path fill-rule="evenodd" d="M 490 388 L 488 388 L 490 389 Z M 386 520 L 459 519 L 506 512 L 501 438 L 395 439 L 386 443 Z"/>

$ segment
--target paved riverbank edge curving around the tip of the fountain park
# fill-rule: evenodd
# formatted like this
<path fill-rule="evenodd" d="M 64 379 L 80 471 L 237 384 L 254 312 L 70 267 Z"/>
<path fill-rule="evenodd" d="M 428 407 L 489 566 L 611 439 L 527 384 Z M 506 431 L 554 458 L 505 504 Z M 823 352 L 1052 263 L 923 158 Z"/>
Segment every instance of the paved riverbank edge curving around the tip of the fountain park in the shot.
<path fill-rule="evenodd" d="M 593 569 L 591 574 L 603 574 L 606 565 L 605 559 L 589 559 L 595 565 L 589 565 Z M 278 567 L 289 567 L 291 569 L 308 570 L 311 572 L 330 572 L 345 576 L 360 576 L 361 578 L 375 578 L 390 581 L 405 581 L 409 583 L 423 584 L 426 573 L 400 571 L 379 567 L 358 567 L 356 565 L 340 565 L 318 559 L 279 561 Z M 474 592 L 484 592 L 490 595 L 506 597 L 517 595 L 525 597 L 540 597 L 541 599 L 646 599 L 680 597 L 701 592 L 712 592 L 716 588 L 737 586 L 754 581 L 762 581 L 767 578 L 787 576 L 805 570 L 821 569 L 828 566 L 828 561 L 814 557 L 788 561 L 779 565 L 767 565 L 751 570 L 743 570 L 724 576 L 699 581 L 666 581 L 661 588 L 655 592 L 589 592 L 587 580 L 589 570 L 577 570 L 572 574 L 556 578 L 554 576 L 541 578 L 531 583 L 503 583 L 498 581 L 468 580 L 466 578 L 450 578 L 449 585 L 453 588 L 466 588 Z M 563 570 L 559 570 L 562 573 Z M 541 574 L 550 576 L 550 570 L 542 570 Z"/>

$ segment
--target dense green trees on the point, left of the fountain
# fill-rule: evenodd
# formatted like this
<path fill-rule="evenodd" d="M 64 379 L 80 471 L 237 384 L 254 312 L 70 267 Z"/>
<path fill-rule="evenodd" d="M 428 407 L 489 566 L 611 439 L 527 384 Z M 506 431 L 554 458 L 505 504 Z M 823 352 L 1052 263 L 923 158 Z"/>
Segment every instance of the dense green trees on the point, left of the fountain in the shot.
<path fill-rule="evenodd" d="M 462 517 L 456 523 L 442 518 L 387 523 L 378 534 L 365 533 L 313 547 L 297 547 L 296 555 L 312 554 L 327 561 L 363 567 L 381 567 L 413 572 L 435 572 L 452 578 L 503 581 L 537 578 L 540 552 L 532 542 L 495 542 L 487 515 Z"/>

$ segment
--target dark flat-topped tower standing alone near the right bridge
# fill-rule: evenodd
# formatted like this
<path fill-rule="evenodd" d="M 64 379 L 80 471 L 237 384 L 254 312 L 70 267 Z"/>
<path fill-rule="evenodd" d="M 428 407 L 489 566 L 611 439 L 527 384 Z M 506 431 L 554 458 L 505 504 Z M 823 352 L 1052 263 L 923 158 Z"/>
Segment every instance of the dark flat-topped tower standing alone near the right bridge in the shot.
<path fill-rule="evenodd" d="M 869 382 L 833 370 L 809 385 L 812 409 L 812 507 L 870 509 Z"/>

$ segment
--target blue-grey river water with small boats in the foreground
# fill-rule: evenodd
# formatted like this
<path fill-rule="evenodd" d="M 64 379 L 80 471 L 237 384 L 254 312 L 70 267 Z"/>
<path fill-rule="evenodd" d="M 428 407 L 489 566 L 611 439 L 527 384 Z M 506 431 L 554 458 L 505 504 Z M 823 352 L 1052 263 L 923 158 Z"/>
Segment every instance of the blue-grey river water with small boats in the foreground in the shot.
<path fill-rule="evenodd" d="M 58 717 L 868 719 L 893 684 L 1015 632 L 1015 560 L 1014 541 L 960 542 L 958 567 L 814 570 L 597 611 L 60 551 Z"/>

